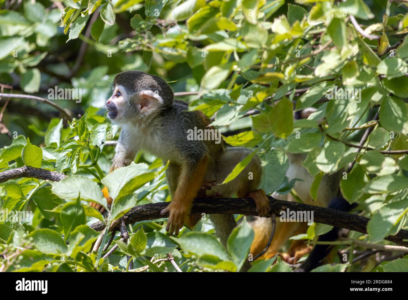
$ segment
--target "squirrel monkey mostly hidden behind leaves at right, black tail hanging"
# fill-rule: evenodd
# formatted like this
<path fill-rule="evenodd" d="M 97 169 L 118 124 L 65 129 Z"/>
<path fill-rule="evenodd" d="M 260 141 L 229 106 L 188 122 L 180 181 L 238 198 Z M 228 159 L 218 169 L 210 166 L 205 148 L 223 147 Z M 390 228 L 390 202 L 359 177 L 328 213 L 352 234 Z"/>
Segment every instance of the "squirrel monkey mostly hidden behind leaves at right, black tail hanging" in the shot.
<path fill-rule="evenodd" d="M 306 119 L 315 112 L 316 109 L 309 108 L 295 113 L 295 119 Z M 352 206 L 348 202 L 339 197 L 341 171 L 337 171 L 333 174 L 326 174 L 323 176 L 319 185 L 317 198 L 314 201 L 310 196 L 310 187 L 313 183 L 313 177 L 302 166 L 302 163 L 306 159 L 307 154 L 293 154 L 287 153 L 289 160 L 289 168 L 286 171 L 286 177 L 288 181 L 295 178 L 301 179 L 296 181 L 293 189 L 299 196 L 299 198 L 309 205 L 317 205 L 320 207 L 329 207 L 341 211 L 350 211 Z M 279 193 L 273 193 L 272 196 L 278 200 L 296 201 L 292 194 L 282 195 Z M 279 253 L 282 246 L 289 240 L 291 236 L 298 235 L 300 233 L 306 233 L 307 223 L 300 222 L 280 222 L 279 218 L 276 219 L 275 234 L 266 253 L 260 259 L 268 259 Z M 272 231 L 272 220 L 270 218 L 255 218 L 253 222 L 253 229 L 255 231 L 255 238 L 251 245 L 251 253 L 255 256 L 260 253 L 267 245 L 269 236 Z M 325 235 L 319 237 L 319 241 L 333 241 L 337 238 L 338 228 L 333 228 Z M 322 260 L 329 250 L 328 245 L 316 245 L 310 252 L 312 247 L 308 247 L 304 240 L 295 240 L 290 245 L 286 253 L 279 253 L 286 261 L 296 264 L 297 261 L 304 255 L 309 254 L 305 262 L 297 271 L 310 271 L 318 266 L 320 260 Z"/>

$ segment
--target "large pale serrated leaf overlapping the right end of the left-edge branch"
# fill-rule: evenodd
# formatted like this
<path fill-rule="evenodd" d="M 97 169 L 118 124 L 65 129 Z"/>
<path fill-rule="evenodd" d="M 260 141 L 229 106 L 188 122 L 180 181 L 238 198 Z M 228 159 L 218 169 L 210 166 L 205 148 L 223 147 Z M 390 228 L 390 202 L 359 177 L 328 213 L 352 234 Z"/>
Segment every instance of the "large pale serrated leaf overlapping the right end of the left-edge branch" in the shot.
<path fill-rule="evenodd" d="M 62 199 L 76 200 L 80 194 L 81 200 L 96 202 L 107 207 L 99 185 L 91 178 L 73 175 L 59 182 L 51 182 L 51 185 L 51 191 Z"/>

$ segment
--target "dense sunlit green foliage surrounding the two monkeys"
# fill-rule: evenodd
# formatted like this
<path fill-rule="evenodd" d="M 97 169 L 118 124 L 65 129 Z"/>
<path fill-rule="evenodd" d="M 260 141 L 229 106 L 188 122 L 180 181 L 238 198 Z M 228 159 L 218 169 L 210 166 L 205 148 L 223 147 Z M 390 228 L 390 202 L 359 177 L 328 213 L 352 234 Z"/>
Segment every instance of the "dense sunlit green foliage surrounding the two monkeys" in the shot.
<path fill-rule="evenodd" d="M 386 236 L 407 227 L 408 151 L 387 152 L 408 149 L 406 4 L 0 0 L 0 5 L 1 92 L 48 98 L 69 114 L 33 99 L 1 100 L 0 171 L 26 165 L 67 176 L 60 182 L 17 178 L 0 184 L 2 211 L 33 211 L 32 224 L 0 221 L 1 271 L 123 271 L 126 255 L 137 271 L 174 271 L 169 261 L 153 261 L 167 253 L 183 271 L 237 271 L 246 260 L 253 239 L 246 218 L 227 249 L 208 218 L 193 231 L 184 227 L 178 237 L 166 236 L 163 218 L 129 226 L 128 244 L 117 233 L 113 245 L 119 247 L 109 258 L 102 259 L 101 250 L 91 253 L 99 233 L 88 225 L 103 218 L 87 202 L 106 206 L 104 185 L 114 199 L 108 224 L 135 205 L 170 200 L 166 162 L 149 153 L 138 153 L 134 164 L 106 175 L 114 154 L 106 141 L 117 140 L 120 128 L 108 121 L 104 99 L 115 74 L 132 69 L 162 76 L 175 92 L 197 92 L 177 98 L 215 116 L 212 124 L 231 146 L 257 151 L 264 164 L 261 188 L 268 194 L 289 193 L 295 183 L 285 176 L 285 153 L 307 153 L 303 165 L 314 177 L 310 195 L 316 197 L 324 174 L 344 168 L 344 198 L 371 219 L 368 234 L 351 231 L 349 238 L 389 244 Z M 365 36 L 375 37 L 362 36 L 353 16 L 364 24 Z M 54 87 L 78 89 L 81 99 L 50 98 Z M 328 99 L 335 88 L 355 97 Z M 297 111 L 317 112 L 293 121 L 293 102 Z M 364 149 L 354 147 L 367 128 L 373 131 L 360 145 Z M 313 225 L 298 238 L 315 240 L 330 228 L 323 229 Z M 339 249 L 367 251 L 350 244 Z M 402 256 L 386 254 L 381 262 L 373 255 L 350 264 L 352 256 L 319 270 L 408 270 Z M 280 258 L 271 267 L 274 262 L 253 263 L 251 270 L 292 271 Z"/>

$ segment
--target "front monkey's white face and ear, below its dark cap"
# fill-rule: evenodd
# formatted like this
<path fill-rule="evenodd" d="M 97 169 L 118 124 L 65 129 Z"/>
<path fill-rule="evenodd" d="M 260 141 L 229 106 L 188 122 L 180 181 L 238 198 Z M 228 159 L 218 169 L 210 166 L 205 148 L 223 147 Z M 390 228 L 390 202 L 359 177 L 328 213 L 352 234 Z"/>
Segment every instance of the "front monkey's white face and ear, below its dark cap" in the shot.
<path fill-rule="evenodd" d="M 108 117 L 115 124 L 140 122 L 158 112 L 162 104 L 163 99 L 158 93 L 144 90 L 129 94 L 121 85 L 113 88 L 111 98 L 105 103 Z"/>

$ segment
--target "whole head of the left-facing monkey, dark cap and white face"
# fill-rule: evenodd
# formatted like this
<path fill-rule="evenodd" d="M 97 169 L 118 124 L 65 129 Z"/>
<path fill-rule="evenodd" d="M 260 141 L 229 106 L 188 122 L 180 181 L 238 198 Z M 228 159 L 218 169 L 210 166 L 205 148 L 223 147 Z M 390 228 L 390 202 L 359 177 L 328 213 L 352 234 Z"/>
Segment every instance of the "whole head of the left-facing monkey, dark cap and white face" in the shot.
<path fill-rule="evenodd" d="M 113 80 L 106 109 L 116 124 L 135 123 L 160 113 L 172 102 L 173 91 L 162 78 L 142 71 L 125 71 Z"/>

